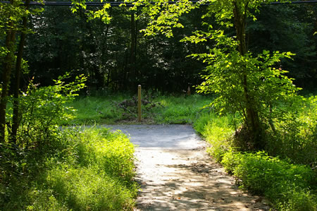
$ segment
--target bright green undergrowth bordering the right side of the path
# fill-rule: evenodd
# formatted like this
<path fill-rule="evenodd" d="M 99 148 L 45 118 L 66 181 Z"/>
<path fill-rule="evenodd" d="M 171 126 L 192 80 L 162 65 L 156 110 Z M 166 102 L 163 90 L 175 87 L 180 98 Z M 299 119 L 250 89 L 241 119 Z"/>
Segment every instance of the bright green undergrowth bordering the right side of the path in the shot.
<path fill-rule="evenodd" d="M 285 114 L 275 131 L 268 128 L 266 152 L 241 146 L 230 115 L 204 113 L 194 128 L 240 188 L 264 195 L 278 210 L 317 210 L 316 106 L 316 97 L 310 97 L 297 113 Z"/>

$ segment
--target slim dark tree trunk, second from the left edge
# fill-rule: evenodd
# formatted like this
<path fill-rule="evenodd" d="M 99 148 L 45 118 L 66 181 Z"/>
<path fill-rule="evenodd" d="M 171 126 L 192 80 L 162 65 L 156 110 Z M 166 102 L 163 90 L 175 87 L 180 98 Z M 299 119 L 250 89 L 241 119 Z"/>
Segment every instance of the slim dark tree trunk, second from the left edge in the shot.
<path fill-rule="evenodd" d="M 28 9 L 30 4 L 30 0 L 25 1 L 25 9 Z M 23 17 L 23 29 L 27 28 L 27 17 Z M 20 76 L 21 76 L 21 64 L 22 64 L 22 55 L 23 49 L 25 45 L 25 37 L 26 34 L 21 31 L 20 43 L 18 47 L 18 54 L 16 57 L 16 65 L 15 65 L 15 87 L 14 87 L 14 100 L 13 100 L 13 123 L 12 123 L 12 131 L 11 131 L 11 140 L 13 143 L 16 143 L 18 128 L 19 128 L 19 119 L 20 119 L 20 111 L 19 111 L 19 94 L 20 94 Z"/>

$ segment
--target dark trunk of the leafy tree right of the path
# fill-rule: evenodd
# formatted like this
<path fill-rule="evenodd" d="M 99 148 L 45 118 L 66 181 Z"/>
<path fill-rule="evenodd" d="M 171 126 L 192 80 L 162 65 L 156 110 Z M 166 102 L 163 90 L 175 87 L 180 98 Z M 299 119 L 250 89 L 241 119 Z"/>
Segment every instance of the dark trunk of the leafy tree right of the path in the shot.
<path fill-rule="evenodd" d="M 234 4 L 234 19 L 235 19 L 235 30 L 237 32 L 237 41 L 239 42 L 239 52 L 244 56 L 247 54 L 247 43 L 245 38 L 245 28 L 246 28 L 246 19 L 247 19 L 247 4 L 244 6 L 244 12 L 241 11 L 237 1 L 233 1 Z M 254 100 L 250 96 L 248 88 L 248 76 L 246 70 L 242 70 L 242 87 L 244 91 L 244 99 L 246 102 L 246 124 L 252 139 L 254 140 L 254 147 L 261 148 L 261 132 L 262 127 L 259 119 L 259 113 L 254 107 Z"/>

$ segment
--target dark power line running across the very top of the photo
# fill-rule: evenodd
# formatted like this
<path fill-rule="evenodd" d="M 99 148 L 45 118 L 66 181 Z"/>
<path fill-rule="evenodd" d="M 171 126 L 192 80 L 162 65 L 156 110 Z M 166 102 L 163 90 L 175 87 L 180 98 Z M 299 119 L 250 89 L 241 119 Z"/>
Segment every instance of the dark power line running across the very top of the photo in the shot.
<path fill-rule="evenodd" d="M 0 1 L 4 4 L 9 4 L 10 1 Z M 199 1 L 193 0 L 191 1 L 192 3 L 197 3 Z M 168 1 L 168 4 L 176 4 L 177 1 Z M 280 5 L 280 4 L 316 4 L 317 0 L 313 0 L 313 1 L 291 1 L 291 2 L 271 2 L 271 5 Z M 109 2 L 86 2 L 85 5 L 86 6 L 104 6 L 104 4 L 110 4 L 111 6 L 120 6 L 121 4 L 123 4 L 123 6 L 128 6 L 128 7 L 132 7 L 134 6 L 134 4 L 125 4 L 124 2 L 117 2 L 117 1 L 109 1 Z M 150 4 L 155 4 L 155 2 L 150 2 Z M 73 6 L 73 3 L 71 1 L 43 1 L 42 3 L 39 3 L 37 1 L 31 1 L 30 5 L 33 6 Z M 209 3 L 205 3 L 202 4 L 204 6 L 209 6 L 211 4 Z M 268 4 L 263 4 L 263 5 L 268 5 Z"/>

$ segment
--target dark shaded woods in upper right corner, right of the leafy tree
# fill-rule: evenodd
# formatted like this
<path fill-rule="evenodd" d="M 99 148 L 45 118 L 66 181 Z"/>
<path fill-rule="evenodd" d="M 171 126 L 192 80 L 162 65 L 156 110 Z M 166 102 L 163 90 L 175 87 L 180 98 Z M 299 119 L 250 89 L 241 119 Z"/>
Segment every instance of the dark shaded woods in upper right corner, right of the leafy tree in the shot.
<path fill-rule="evenodd" d="M 315 19 L 317 5 L 266 5 L 259 10 L 257 21 L 247 23 L 246 36 L 251 51 L 258 54 L 268 49 L 294 53 L 293 60 L 282 60 L 281 66 L 290 71 L 287 76 L 295 78 L 294 84 L 313 90 L 317 41 L 313 32 L 316 26 L 306 20 Z"/>

